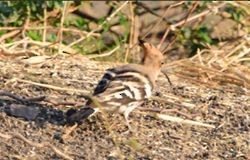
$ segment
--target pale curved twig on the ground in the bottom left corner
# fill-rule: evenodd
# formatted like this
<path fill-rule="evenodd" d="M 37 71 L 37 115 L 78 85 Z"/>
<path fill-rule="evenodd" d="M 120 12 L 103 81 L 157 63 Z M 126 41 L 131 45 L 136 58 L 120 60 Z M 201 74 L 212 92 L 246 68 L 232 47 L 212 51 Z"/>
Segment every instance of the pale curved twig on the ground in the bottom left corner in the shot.
<path fill-rule="evenodd" d="M 23 135 L 19 134 L 19 133 L 8 133 L 8 134 L 3 134 L 0 133 L 0 137 L 10 140 L 13 138 L 17 138 L 20 139 L 22 141 L 24 141 L 25 143 L 27 143 L 30 146 L 36 147 L 36 148 L 45 148 L 48 147 L 50 148 L 53 152 L 55 152 L 58 156 L 67 159 L 67 160 L 73 160 L 73 158 L 71 158 L 70 156 L 68 156 L 67 154 L 64 153 L 64 151 L 60 151 L 58 148 L 56 148 L 55 146 L 53 146 L 51 144 L 51 142 L 43 142 L 43 143 L 37 143 L 37 142 L 33 142 L 28 140 L 27 138 L 25 138 Z"/>

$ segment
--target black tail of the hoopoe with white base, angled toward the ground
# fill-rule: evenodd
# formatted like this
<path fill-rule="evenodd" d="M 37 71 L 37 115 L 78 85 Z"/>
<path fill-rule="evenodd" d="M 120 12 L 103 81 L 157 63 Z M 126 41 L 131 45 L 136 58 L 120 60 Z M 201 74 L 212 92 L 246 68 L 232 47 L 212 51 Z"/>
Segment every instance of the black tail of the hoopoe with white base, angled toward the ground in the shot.
<path fill-rule="evenodd" d="M 81 123 L 97 112 L 98 108 L 84 107 L 79 110 L 71 108 L 66 112 L 66 120 L 68 124 Z"/>

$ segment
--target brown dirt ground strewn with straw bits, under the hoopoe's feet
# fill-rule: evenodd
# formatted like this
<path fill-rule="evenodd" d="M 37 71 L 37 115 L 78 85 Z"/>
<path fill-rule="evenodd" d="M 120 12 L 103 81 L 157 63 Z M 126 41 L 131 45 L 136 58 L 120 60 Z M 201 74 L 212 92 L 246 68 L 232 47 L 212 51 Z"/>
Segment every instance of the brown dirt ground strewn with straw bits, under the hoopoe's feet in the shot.
<path fill-rule="evenodd" d="M 0 60 L 0 87 L 23 97 L 45 95 L 57 102 L 84 103 L 83 93 L 41 87 L 16 78 L 88 93 L 104 70 L 116 65 L 89 61 L 81 56 L 56 56 L 32 65 L 4 59 Z M 64 113 L 73 106 L 42 101 L 21 102 L 0 96 L 0 159 L 67 158 L 60 153 L 67 155 L 68 159 L 249 159 L 249 90 L 223 84 L 220 89 L 211 89 L 178 78 L 174 73 L 169 76 L 174 90 L 162 74 L 155 96 L 174 99 L 183 105 L 149 100 L 143 107 L 177 109 L 192 120 L 214 125 L 215 128 L 164 121 L 148 112 L 135 110 L 130 116 L 133 132 L 127 132 L 120 115 L 109 116 L 108 120 L 97 115 L 65 138 L 71 126 L 65 124 Z M 10 116 L 11 107 L 18 106 L 33 108 L 37 114 L 30 120 Z M 177 112 L 165 114 L 186 118 Z M 53 147 L 60 153 L 56 153 Z"/>

